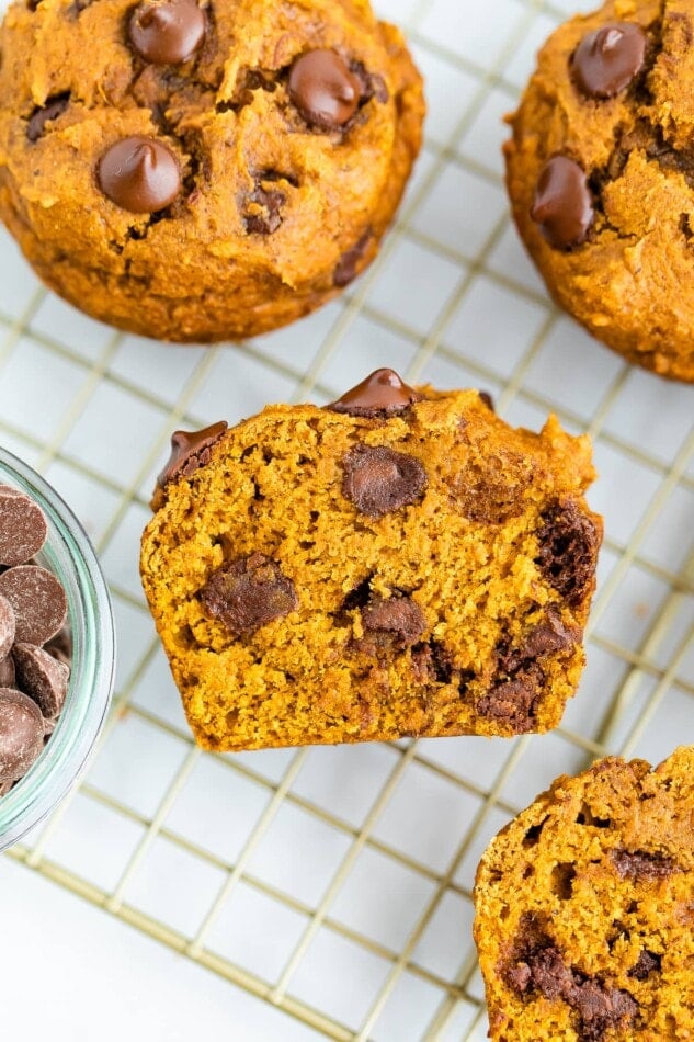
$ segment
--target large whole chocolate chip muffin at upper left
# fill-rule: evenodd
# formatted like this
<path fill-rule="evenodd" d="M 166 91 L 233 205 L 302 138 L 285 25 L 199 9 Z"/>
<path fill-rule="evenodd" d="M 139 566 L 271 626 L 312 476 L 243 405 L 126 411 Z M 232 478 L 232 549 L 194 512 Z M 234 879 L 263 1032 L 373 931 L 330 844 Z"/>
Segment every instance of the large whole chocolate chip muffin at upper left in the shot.
<path fill-rule="evenodd" d="M 420 147 L 421 78 L 366 0 L 23 0 L 0 49 L 0 216 L 52 288 L 144 336 L 329 301 Z"/>

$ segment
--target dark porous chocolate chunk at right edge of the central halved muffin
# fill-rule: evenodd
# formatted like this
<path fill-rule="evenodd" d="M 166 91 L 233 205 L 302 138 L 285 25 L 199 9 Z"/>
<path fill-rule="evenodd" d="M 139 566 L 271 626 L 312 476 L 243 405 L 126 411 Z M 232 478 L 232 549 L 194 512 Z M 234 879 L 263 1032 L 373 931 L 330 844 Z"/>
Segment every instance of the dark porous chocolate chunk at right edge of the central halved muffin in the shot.
<path fill-rule="evenodd" d="M 601 535 L 571 499 L 555 503 L 542 521 L 535 564 L 567 604 L 576 608 L 593 587 Z"/>

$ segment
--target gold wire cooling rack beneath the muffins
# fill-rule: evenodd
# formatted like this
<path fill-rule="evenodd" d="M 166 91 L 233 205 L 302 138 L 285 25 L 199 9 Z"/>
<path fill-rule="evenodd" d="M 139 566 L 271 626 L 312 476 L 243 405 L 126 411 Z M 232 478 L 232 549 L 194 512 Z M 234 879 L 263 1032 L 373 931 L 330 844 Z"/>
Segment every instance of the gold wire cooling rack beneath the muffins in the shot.
<path fill-rule="evenodd" d="M 120 636 L 99 757 L 10 857 L 308 1034 L 482 1039 L 471 887 L 489 838 L 558 773 L 606 752 L 658 761 L 694 737 L 694 392 L 624 365 L 548 303 L 502 188 L 501 116 L 577 5 L 379 4 L 426 76 L 426 146 L 378 261 L 288 330 L 236 349 L 140 341 L 47 294 L 1 242 L 1 440 L 81 514 Z M 203 754 L 137 577 L 170 432 L 325 403 L 377 365 L 592 435 L 606 541 L 579 694 L 541 738 Z"/>

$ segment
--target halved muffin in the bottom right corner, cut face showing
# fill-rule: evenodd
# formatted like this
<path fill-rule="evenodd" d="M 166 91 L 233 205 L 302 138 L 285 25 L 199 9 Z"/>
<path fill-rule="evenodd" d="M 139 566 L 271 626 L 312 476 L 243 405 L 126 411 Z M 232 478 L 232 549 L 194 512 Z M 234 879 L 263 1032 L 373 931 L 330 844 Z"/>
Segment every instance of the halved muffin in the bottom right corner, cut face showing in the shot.
<path fill-rule="evenodd" d="M 494 1042 L 694 1037 L 694 748 L 561 777 L 487 849 L 475 940 Z"/>

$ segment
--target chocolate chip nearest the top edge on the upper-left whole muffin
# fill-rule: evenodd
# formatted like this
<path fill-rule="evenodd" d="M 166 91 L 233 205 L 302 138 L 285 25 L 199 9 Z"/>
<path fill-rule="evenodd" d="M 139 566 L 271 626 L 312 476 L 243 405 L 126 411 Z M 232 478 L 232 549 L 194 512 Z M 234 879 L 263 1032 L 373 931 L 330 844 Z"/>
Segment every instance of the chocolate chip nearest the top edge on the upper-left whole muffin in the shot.
<path fill-rule="evenodd" d="M 192 58 L 205 36 L 205 15 L 195 0 L 145 0 L 128 23 L 135 50 L 152 65 L 179 65 Z"/>

